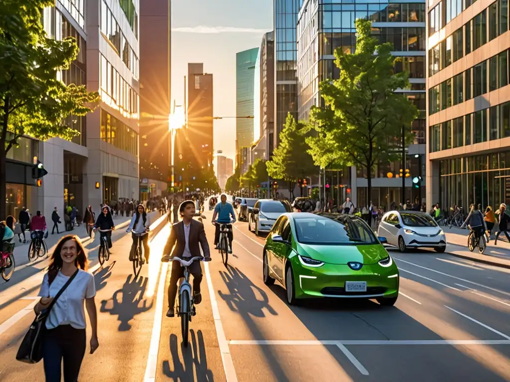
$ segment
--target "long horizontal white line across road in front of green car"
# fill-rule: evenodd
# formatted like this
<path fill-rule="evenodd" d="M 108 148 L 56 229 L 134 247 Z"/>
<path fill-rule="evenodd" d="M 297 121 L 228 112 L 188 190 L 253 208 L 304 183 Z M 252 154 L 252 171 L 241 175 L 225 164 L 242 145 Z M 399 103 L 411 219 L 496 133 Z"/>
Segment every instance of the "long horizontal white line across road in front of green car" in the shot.
<path fill-rule="evenodd" d="M 510 340 L 232 340 L 230 345 L 510 345 Z"/>

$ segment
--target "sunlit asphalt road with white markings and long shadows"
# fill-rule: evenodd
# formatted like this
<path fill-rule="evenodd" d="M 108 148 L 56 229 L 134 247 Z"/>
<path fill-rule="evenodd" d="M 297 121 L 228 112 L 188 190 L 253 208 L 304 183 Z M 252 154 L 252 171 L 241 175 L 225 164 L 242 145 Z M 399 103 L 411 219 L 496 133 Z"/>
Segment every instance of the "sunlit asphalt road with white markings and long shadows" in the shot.
<path fill-rule="evenodd" d="M 205 227 L 212 248 L 214 227 Z M 152 260 L 168 234 L 166 227 L 151 242 Z M 172 264 L 151 261 L 133 280 L 131 239 L 117 237 L 112 260 L 96 271 L 100 347 L 86 354 L 80 380 L 510 380 L 509 269 L 391 250 L 401 276 L 394 307 L 322 299 L 291 308 L 283 287 L 262 281 L 264 239 L 246 223 L 235 225 L 234 237 L 228 268 L 215 251 L 202 264 L 203 301 L 188 347 L 180 319 L 164 316 Z M 0 292 L 0 380 L 39 381 L 42 363 L 14 360 L 32 314 L 5 329 L 33 304 L 21 298 L 38 291 L 20 283 Z"/>

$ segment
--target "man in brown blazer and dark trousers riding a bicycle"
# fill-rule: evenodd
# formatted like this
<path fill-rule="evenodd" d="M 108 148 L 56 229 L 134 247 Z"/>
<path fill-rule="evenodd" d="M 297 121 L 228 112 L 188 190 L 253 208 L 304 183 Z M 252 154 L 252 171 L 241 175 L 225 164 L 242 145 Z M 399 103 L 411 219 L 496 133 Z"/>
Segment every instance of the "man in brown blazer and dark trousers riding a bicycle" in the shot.
<path fill-rule="evenodd" d="M 172 225 L 170 236 L 165 244 L 161 261 L 168 262 L 171 257 L 180 257 L 182 259 L 189 260 L 192 257 L 200 256 L 199 243 L 202 247 L 203 257 L 211 257 L 203 224 L 193 220 L 193 217 L 195 216 L 195 203 L 192 200 L 182 202 L 179 206 L 179 213 L 183 218 L 183 221 Z M 198 305 L 202 301 L 202 296 L 200 294 L 202 268 L 200 263 L 197 261 L 192 262 L 189 266 L 189 271 L 193 275 L 194 304 Z M 182 277 L 184 277 L 184 268 L 179 266 L 179 264 L 174 264 L 172 266 L 170 283 L 168 285 L 167 317 L 173 317 L 175 315 L 174 305 L 175 296 L 177 295 L 177 281 L 179 281 Z"/>

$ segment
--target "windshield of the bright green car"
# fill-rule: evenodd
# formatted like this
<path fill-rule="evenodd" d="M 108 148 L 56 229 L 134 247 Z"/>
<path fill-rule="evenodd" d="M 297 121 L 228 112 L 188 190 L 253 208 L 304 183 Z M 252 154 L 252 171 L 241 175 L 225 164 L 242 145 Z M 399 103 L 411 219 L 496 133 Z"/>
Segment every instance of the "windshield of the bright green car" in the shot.
<path fill-rule="evenodd" d="M 303 244 L 358 245 L 377 244 L 377 238 L 365 222 L 352 217 L 297 217 L 297 241 Z"/>

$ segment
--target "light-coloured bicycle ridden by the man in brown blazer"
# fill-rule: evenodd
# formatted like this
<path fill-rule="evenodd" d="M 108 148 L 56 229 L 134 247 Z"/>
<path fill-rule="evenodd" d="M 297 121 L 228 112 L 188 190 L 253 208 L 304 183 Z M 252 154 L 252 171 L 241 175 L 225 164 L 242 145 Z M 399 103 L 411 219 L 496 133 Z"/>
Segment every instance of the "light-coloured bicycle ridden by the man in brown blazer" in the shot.
<path fill-rule="evenodd" d="M 189 323 L 191 317 L 196 315 L 194 297 L 191 294 L 190 272 L 188 267 L 195 260 L 211 261 L 210 257 L 195 256 L 189 260 L 181 259 L 180 257 L 172 257 L 171 261 L 179 261 L 181 266 L 184 267 L 184 281 L 179 286 L 179 305 L 177 305 L 177 316 L 181 317 L 181 332 L 183 335 L 184 347 L 188 347 Z"/>

